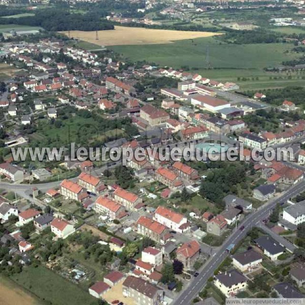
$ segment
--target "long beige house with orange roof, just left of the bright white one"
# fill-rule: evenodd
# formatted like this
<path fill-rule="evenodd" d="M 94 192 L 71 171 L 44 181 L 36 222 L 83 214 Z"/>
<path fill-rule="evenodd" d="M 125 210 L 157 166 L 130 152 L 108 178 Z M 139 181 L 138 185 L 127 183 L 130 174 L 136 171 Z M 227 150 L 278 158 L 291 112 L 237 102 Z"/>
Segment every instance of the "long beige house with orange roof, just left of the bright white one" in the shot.
<path fill-rule="evenodd" d="M 157 242 L 162 242 L 164 234 L 168 232 L 166 226 L 145 216 L 141 216 L 137 220 L 137 231 Z"/>

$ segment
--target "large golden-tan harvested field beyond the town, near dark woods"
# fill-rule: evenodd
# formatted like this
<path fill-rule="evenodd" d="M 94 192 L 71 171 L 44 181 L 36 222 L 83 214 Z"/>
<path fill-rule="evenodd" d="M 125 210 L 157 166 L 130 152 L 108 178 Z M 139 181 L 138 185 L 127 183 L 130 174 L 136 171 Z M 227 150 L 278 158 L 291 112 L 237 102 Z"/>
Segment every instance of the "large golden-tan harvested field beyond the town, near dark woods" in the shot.
<path fill-rule="evenodd" d="M 69 35 L 69 32 L 60 32 Z M 209 32 L 171 31 L 143 27 L 115 26 L 114 30 L 96 32 L 70 31 L 70 37 L 102 46 L 168 44 L 172 41 L 221 35 Z"/>

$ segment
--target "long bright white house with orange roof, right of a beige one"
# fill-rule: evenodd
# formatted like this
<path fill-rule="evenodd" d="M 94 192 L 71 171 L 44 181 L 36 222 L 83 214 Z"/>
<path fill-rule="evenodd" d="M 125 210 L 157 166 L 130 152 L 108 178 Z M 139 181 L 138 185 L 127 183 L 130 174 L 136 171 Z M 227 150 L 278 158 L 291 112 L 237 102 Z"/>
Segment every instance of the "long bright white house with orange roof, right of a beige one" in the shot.
<path fill-rule="evenodd" d="M 183 233 L 190 228 L 188 219 L 184 215 L 162 205 L 157 207 L 154 220 L 179 233 Z"/>

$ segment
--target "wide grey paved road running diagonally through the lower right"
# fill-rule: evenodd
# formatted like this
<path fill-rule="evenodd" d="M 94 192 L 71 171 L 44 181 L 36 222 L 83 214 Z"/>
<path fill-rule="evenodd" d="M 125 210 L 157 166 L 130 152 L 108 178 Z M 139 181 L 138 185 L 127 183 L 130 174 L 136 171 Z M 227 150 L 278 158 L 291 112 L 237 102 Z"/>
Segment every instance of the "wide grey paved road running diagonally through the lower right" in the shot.
<path fill-rule="evenodd" d="M 240 231 L 239 229 L 233 231 L 230 237 L 223 243 L 219 250 L 214 253 L 207 261 L 207 263 L 200 269 L 199 275 L 197 278 L 193 278 L 189 286 L 182 291 L 178 298 L 173 302 L 173 305 L 189 305 L 192 303 L 192 299 L 203 289 L 206 285 L 207 280 L 214 276 L 214 270 L 221 264 L 221 262 L 228 256 L 226 248 L 234 243 L 235 245 L 241 241 L 246 235 L 247 232 L 255 227 L 262 219 L 266 218 L 269 215 L 269 212 L 274 208 L 277 202 L 286 201 L 287 199 L 301 193 L 304 190 L 305 181 L 299 182 L 299 184 L 291 187 L 286 191 L 282 196 L 274 198 L 263 206 L 261 206 L 257 211 L 250 214 L 240 226 L 245 226 L 245 229 Z"/>

